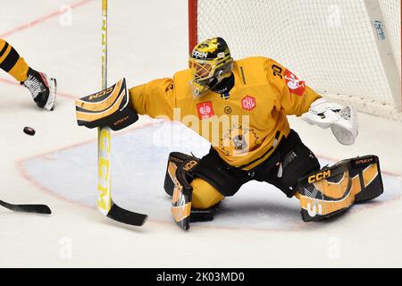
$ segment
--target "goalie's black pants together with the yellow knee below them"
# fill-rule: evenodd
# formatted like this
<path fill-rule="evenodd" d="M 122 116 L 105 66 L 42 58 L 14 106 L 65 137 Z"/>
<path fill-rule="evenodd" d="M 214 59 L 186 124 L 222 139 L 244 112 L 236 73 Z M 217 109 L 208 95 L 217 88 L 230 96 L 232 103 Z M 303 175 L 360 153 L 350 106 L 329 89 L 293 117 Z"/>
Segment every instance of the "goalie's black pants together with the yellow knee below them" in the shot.
<path fill-rule="evenodd" d="M 320 164 L 313 152 L 306 147 L 298 134 L 290 130 L 272 155 L 250 171 L 240 170 L 226 164 L 214 148 L 197 164 L 196 178 L 192 183 L 195 208 L 208 208 L 219 203 L 224 197 L 236 194 L 247 181 L 266 181 L 281 189 L 292 198 L 297 189 L 297 181 L 311 172 L 320 170 Z"/>

